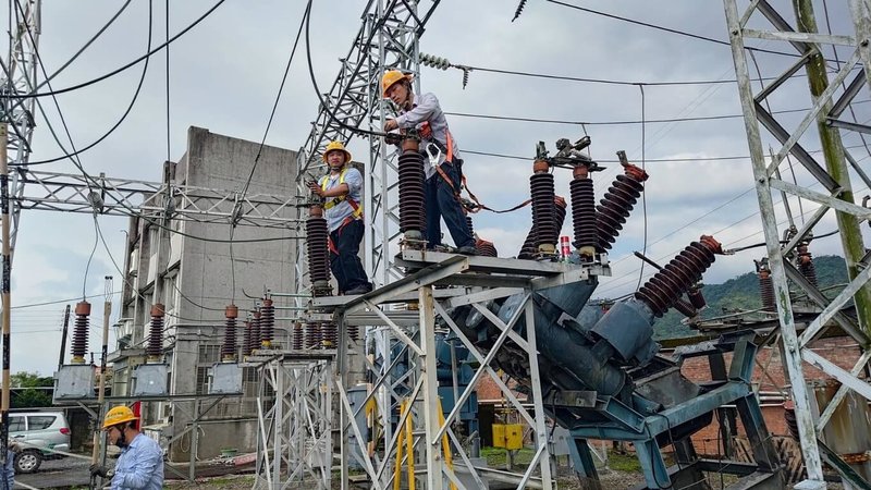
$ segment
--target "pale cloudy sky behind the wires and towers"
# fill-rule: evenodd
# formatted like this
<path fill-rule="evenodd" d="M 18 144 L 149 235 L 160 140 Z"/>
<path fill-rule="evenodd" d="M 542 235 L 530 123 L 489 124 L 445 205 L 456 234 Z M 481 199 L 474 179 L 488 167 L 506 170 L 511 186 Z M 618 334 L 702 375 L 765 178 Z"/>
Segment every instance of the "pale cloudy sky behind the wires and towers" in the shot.
<path fill-rule="evenodd" d="M 364 1 L 317 0 L 312 8 L 311 46 L 315 72 L 322 90 L 332 84 L 344 57 L 359 29 Z M 424 1 L 429 4 L 429 0 Z M 609 2 L 529 0 L 512 22 L 517 0 L 442 0 L 426 34 L 421 52 L 449 59 L 452 63 L 478 68 L 468 86 L 462 86 L 457 70 L 424 68 L 422 87 L 433 91 L 445 111 L 576 123 L 500 121 L 480 117 L 450 118 L 451 128 L 465 155 L 469 186 L 494 208 L 511 207 L 528 197 L 529 160 L 536 143 L 543 140 L 553 149 L 560 137 L 577 139 L 585 131 L 592 138 L 591 156 L 600 161 L 615 160 L 617 150 L 626 150 L 630 161 L 645 163 L 650 173 L 646 212 L 641 204 L 625 226 L 611 254 L 613 277 L 603 279 L 602 297 L 616 297 L 636 287 L 639 261 L 633 250 L 647 242 L 648 255 L 667 262 L 690 241 L 713 234 L 726 247 L 762 241 L 758 204 L 752 191 L 748 148 L 743 120 L 653 122 L 679 118 L 736 115 L 740 113 L 734 83 L 695 85 L 655 85 L 660 82 L 731 81 L 734 69 L 728 46 L 694 39 L 649 26 L 597 15 L 566 7 L 574 4 L 614 16 L 627 17 L 671 29 L 726 40 L 723 5 L 720 1 L 672 0 L 662 3 L 640 0 Z M 829 16 L 833 28 L 844 33 L 849 19 L 842 5 L 832 2 Z M 837 3 L 837 5 L 835 5 Z M 213 2 L 187 0 L 170 5 L 170 32 L 185 27 Z M 788 2 L 775 2 L 788 14 Z M 184 154 L 186 128 L 192 125 L 213 133 L 259 140 L 275 97 L 284 65 L 298 28 L 304 2 L 229 0 L 206 21 L 184 35 L 170 50 L 170 158 Z M 823 3 L 817 3 L 820 28 L 825 30 Z M 118 1 L 45 2 L 40 54 L 53 73 L 75 53 L 120 8 Z M 152 4 L 154 42 L 165 36 L 165 2 Z M 108 73 L 146 51 L 149 3 L 136 0 L 82 57 L 52 81 L 56 89 L 76 85 Z M 4 12 L 5 13 L 5 12 Z M 790 20 L 792 15 L 787 15 Z M 764 26 L 758 22 L 759 26 Z M 7 25 L 4 22 L 3 25 Z M 839 30 L 838 30 L 839 29 Z M 758 42 L 755 46 L 790 51 L 788 45 Z M 302 48 L 302 47 L 300 47 Z M 792 51 L 790 51 L 792 52 Z M 300 50 L 292 64 L 272 130 L 267 143 L 291 149 L 306 140 L 318 110 L 311 83 Z M 834 59 L 834 53 L 826 53 Z M 843 60 L 846 52 L 839 52 Z M 757 56 L 763 77 L 778 75 L 793 60 L 788 57 Z M 89 173 L 158 181 L 167 159 L 167 87 L 163 53 L 151 59 L 143 89 L 131 114 L 102 144 L 82 156 Z M 834 63 L 830 64 L 835 68 Z M 603 84 L 519 76 L 487 70 L 516 71 L 529 74 L 628 82 Z M 143 64 L 58 97 L 63 117 L 76 147 L 102 136 L 122 115 L 133 98 Z M 41 78 L 41 75 L 40 75 Z M 633 85 L 635 83 L 636 85 Z M 641 86 L 637 84 L 651 84 Z M 857 101 L 867 101 L 868 93 Z M 643 101 L 643 103 L 642 103 Z M 796 77 L 771 99 L 774 111 L 810 106 L 807 82 Z M 49 98 L 41 99 L 48 122 L 62 131 L 60 117 Z M 868 105 L 855 105 L 856 117 L 867 121 Z M 648 121 L 640 124 L 642 120 Z M 782 117 L 788 126 L 798 121 L 795 114 Z M 577 122 L 587 122 L 581 126 Z M 614 124 L 615 122 L 627 122 Z M 60 133 L 62 134 L 62 133 Z M 770 139 L 770 138 L 769 138 Z M 643 143 L 643 144 L 642 144 Z M 814 135 L 801 143 L 809 150 L 819 149 Z M 69 142 L 64 140 L 69 148 Z M 857 159 L 868 161 L 868 149 L 856 134 L 845 135 Z M 352 142 L 357 155 L 363 143 Z M 775 147 L 775 151 L 777 148 Z M 476 154 L 473 154 L 475 151 Z M 499 154 L 519 158 L 477 155 Z M 32 160 L 62 155 L 53 142 L 46 118 L 37 115 Z M 642 160 L 643 159 L 643 160 Z M 649 161 L 648 161 L 649 160 Z M 240 162 L 248 166 L 250 162 Z M 599 196 L 616 175 L 618 166 L 603 163 L 608 170 L 596 175 Z M 788 172 L 788 167 L 783 167 Z M 58 162 L 39 170 L 74 173 L 73 166 Z M 569 174 L 557 171 L 557 194 L 568 194 Z M 792 175 L 792 174 L 789 174 Z M 796 169 L 799 184 L 808 185 L 807 172 Z M 864 184 L 854 179 L 857 196 L 868 194 Z M 819 187 L 818 187 L 819 188 Z M 289 193 L 291 189 L 289 189 Z M 780 201 L 780 197 L 776 198 Z M 793 213 L 809 216 L 813 207 L 790 200 Z M 782 212 L 782 220 L 786 219 Z M 495 242 L 502 256 L 517 253 L 528 232 L 529 208 L 511 215 L 481 213 L 475 218 L 476 230 Z M 112 256 L 123 264 L 123 233 L 126 220 L 100 217 Z M 834 230 L 827 217 L 820 233 Z M 571 235 L 571 219 L 563 234 Z M 645 240 L 647 236 L 647 241 Z M 90 338 L 91 350 L 99 351 L 96 326 L 102 322 L 103 277 L 119 273 L 100 244 L 85 269 L 95 246 L 95 226 L 90 216 L 26 211 L 21 217 L 13 269 L 12 369 L 50 373 L 57 366 L 60 324 L 65 304 L 86 295 L 95 304 Z M 814 242 L 814 254 L 838 253 L 837 236 Z M 752 259 L 762 249 L 721 257 L 706 274 L 709 283 L 722 282 L 752 269 Z M 650 268 L 646 269 L 646 275 Z M 287 289 L 290 285 L 282 285 Z M 270 287 L 280 290 L 279 285 Z M 114 296 L 118 298 L 118 295 Z M 50 305 L 24 307 L 56 302 Z M 111 322 L 118 319 L 114 305 Z M 110 339 L 114 341 L 114 335 Z"/>

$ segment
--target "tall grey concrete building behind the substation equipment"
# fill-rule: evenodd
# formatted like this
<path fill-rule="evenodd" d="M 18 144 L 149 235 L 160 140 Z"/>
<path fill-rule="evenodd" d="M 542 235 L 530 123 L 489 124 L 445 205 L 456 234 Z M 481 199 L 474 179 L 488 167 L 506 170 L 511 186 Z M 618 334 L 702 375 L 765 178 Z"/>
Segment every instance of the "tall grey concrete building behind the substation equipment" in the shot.
<path fill-rule="evenodd" d="M 214 189 L 218 191 L 216 195 L 221 191 L 241 194 L 258 148 L 259 144 L 254 142 L 191 127 L 184 156 L 177 163 L 164 164 L 163 181 Z M 246 196 L 293 195 L 296 161 L 295 151 L 263 147 Z M 154 200 L 163 203 L 163 197 L 154 196 Z M 229 219 L 216 218 L 208 223 L 179 219 L 185 210 L 198 205 L 188 199 L 172 200 L 176 218 L 167 226 L 171 233 L 161 234 L 158 220 L 148 212 L 131 219 L 119 345 L 109 359 L 114 370 L 114 395 L 130 393 L 131 375 L 135 366 L 145 360 L 154 303 L 165 305 L 162 346 L 169 367 L 170 394 L 204 394 L 208 392 L 208 370 L 220 360 L 224 307 L 235 303 L 240 308 L 237 339 L 241 344 L 245 313 L 254 307 L 254 299 L 246 295 L 260 297 L 267 287 L 289 291 L 293 284 L 296 262 L 296 242 L 291 238 L 295 235 L 293 230 L 255 226 L 243 221 L 233 230 L 235 241 L 289 240 L 235 243 L 231 250 L 226 242 L 231 237 Z M 233 199 L 229 199 L 211 210 L 226 212 L 233 206 Z M 284 218 L 293 218 L 295 212 L 293 206 L 280 210 Z M 203 213 L 208 215 L 205 210 Z M 283 316 L 287 315 L 281 310 L 277 315 Z M 287 321 L 277 321 L 275 336 L 280 345 L 284 345 L 287 326 Z M 198 458 L 212 457 L 225 448 L 245 452 L 256 446 L 258 380 L 255 368 L 245 368 L 243 383 L 242 399 L 224 399 L 199 424 Z M 144 426 L 159 428 L 162 437 L 170 438 L 188 427 L 197 409 L 196 403 L 177 400 L 146 403 Z M 210 401 L 201 402 L 200 409 L 208 405 Z M 173 443 L 169 450 L 170 460 L 187 461 L 191 442 L 188 433 Z"/>

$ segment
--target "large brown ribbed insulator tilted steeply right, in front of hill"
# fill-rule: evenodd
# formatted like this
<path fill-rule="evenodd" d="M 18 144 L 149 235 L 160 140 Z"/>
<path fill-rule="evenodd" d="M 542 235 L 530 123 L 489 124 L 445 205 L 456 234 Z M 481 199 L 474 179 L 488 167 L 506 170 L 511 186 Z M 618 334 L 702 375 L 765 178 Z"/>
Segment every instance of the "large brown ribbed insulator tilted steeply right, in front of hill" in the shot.
<path fill-rule="evenodd" d="M 635 293 L 635 297 L 645 302 L 654 316 L 663 316 L 684 293 L 701 279 L 702 272 L 714 262 L 714 254 L 722 253 L 720 243 L 711 236 L 702 236 L 699 242 L 689 244 L 677 257 L 650 278 Z"/>

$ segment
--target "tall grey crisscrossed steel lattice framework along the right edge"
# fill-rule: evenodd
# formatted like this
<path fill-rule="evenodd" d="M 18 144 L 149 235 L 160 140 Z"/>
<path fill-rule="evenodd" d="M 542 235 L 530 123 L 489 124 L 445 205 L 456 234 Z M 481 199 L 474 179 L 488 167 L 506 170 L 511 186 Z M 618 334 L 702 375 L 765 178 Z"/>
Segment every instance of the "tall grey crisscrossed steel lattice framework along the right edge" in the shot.
<path fill-rule="evenodd" d="M 867 69 L 871 66 L 871 47 L 869 46 L 869 40 L 871 39 L 871 1 L 849 0 L 848 3 L 855 32 L 848 35 L 822 35 L 796 32 L 785 21 L 784 16 L 778 14 L 765 0 L 749 2 L 749 7 L 744 12 L 739 11 L 737 0 L 724 0 L 732 53 L 735 61 L 735 72 L 738 79 L 738 90 L 750 147 L 753 175 L 756 179 L 757 197 L 759 199 L 768 246 L 768 256 L 774 281 L 782 333 L 781 338 L 783 342 L 783 352 L 785 353 L 784 362 L 796 404 L 796 418 L 799 427 L 801 451 L 805 456 L 805 465 L 808 473 L 808 480 L 803 482 L 801 488 L 825 488 L 822 473 L 823 458 L 833 467 L 837 468 L 846 480 L 855 481 L 852 478 L 861 479 L 858 475 L 850 475 L 849 467 L 843 464 L 843 461 L 841 461 L 836 454 L 825 451 L 821 458 L 821 449 L 825 446 L 818 443 L 818 439 L 835 408 L 841 404 L 849 390 L 854 390 L 866 399 L 871 400 L 871 384 L 857 376 L 866 368 L 869 357 L 871 357 L 871 351 L 866 350 L 856 366 L 850 371 L 847 371 L 835 365 L 832 360 L 826 359 L 820 353 L 810 350 L 810 343 L 823 332 L 831 320 L 836 321 L 845 332 L 856 339 L 860 346 L 868 348 L 869 338 L 866 332 L 869 326 L 856 324 L 851 319 L 841 316 L 839 310 L 845 304 L 857 297 L 857 295 L 867 293 L 867 287 L 869 287 L 868 280 L 871 278 L 871 268 L 868 268 L 867 264 L 863 265 L 866 268 L 852 279 L 847 287 L 845 287 L 836 298 L 829 301 L 819 290 L 803 280 L 801 273 L 798 272 L 787 259 L 787 255 L 794 250 L 801 240 L 807 237 L 813 226 L 830 209 L 834 209 L 838 213 L 852 216 L 858 221 L 864 221 L 871 218 L 871 210 L 842 198 L 842 192 L 844 189 L 849 191 L 848 180 L 844 182 L 842 179 L 841 182 L 836 182 L 824 167 L 814 161 L 813 158 L 797 144 L 799 137 L 807 128 L 823 118 L 830 126 L 839 127 L 842 130 L 862 132 L 869 132 L 869 130 L 871 130 L 869 126 L 846 123 L 838 120 L 841 112 L 846 109 L 862 86 L 871 88 L 871 71 Z M 747 23 L 753 17 L 755 13 L 761 13 L 773 26 L 773 29 L 759 30 L 747 28 Z M 748 69 L 748 57 L 745 50 L 746 40 L 749 39 L 783 41 L 783 44 L 777 47 L 782 46 L 788 48 L 788 45 L 792 45 L 799 50 L 798 54 L 802 54 L 802 57 L 798 58 L 796 64 L 787 70 L 778 79 L 772 82 L 760 93 L 755 94 Z M 761 100 L 774 91 L 785 78 L 805 66 L 805 63 L 807 63 L 807 56 L 803 56 L 806 50 L 821 50 L 823 46 L 841 46 L 850 49 L 850 52 L 847 57 L 847 61 L 839 66 L 838 73 L 829 84 L 829 87 L 813 100 L 813 107 L 807 112 L 797 130 L 793 133 L 788 133 L 777 123 L 774 117 L 762 107 Z M 847 84 L 847 88 L 841 90 L 839 85 L 843 82 L 849 82 L 851 70 L 859 66 L 859 62 L 866 66 L 866 70 L 861 70 L 858 76 L 852 78 L 851 83 Z M 760 123 L 783 145 L 780 151 L 773 157 L 773 162 L 765 161 Z M 837 140 L 837 147 L 845 152 L 845 157 L 848 161 L 855 163 L 852 157 L 843 149 L 839 138 Z M 818 183 L 822 184 L 822 186 L 829 191 L 829 194 L 780 180 L 776 170 L 787 155 L 792 155 L 801 162 L 809 173 L 815 177 Z M 832 162 L 827 163 L 832 164 Z M 841 164 L 843 166 L 844 162 L 842 161 Z M 820 205 L 819 210 L 814 212 L 807 224 L 805 224 L 798 231 L 798 234 L 784 246 L 781 244 L 781 230 L 778 230 L 775 218 L 772 197 L 773 192 L 783 192 L 799 196 Z M 842 232 L 844 232 L 844 230 L 842 230 Z M 787 279 L 794 281 L 798 286 L 805 290 L 809 297 L 817 302 L 822 309 L 819 317 L 817 317 L 801 334 L 798 334 L 796 331 Z M 809 393 L 802 372 L 802 362 L 813 365 L 842 383 L 837 394 L 825 407 L 817 424 L 814 424 L 812 418 Z"/>

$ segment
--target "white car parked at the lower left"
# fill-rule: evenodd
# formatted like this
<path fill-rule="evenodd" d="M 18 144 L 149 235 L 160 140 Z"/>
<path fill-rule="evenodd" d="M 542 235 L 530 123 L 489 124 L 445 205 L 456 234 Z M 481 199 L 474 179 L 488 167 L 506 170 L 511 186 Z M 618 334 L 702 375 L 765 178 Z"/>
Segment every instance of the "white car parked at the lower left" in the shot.
<path fill-rule="evenodd" d="M 64 457 L 53 452 L 70 451 L 70 425 L 63 412 L 13 412 L 9 414 L 9 437 L 17 442 L 15 473 L 35 473 L 42 460 Z"/>

